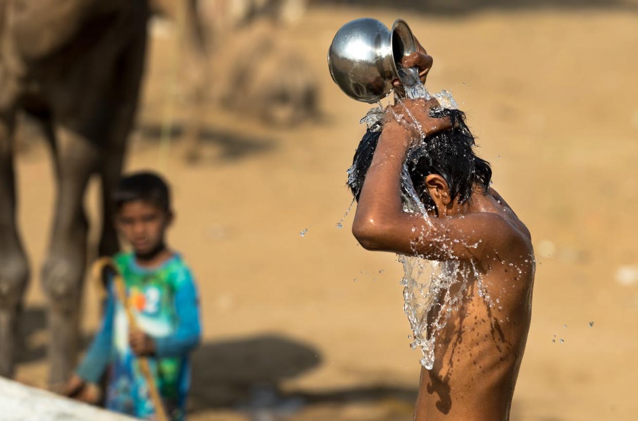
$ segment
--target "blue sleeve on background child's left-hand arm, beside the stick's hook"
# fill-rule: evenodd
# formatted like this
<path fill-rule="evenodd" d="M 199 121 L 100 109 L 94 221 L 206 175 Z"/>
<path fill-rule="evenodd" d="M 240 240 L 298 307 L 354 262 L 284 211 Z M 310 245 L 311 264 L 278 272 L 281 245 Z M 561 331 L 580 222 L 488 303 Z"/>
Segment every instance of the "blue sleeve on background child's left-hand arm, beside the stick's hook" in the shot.
<path fill-rule="evenodd" d="M 107 306 L 104 311 L 104 318 L 98 334 L 93 338 L 84 360 L 75 370 L 82 380 L 91 383 L 98 383 L 111 355 L 113 344 L 113 316 L 115 313 L 115 301 L 111 288 L 108 288 Z"/>

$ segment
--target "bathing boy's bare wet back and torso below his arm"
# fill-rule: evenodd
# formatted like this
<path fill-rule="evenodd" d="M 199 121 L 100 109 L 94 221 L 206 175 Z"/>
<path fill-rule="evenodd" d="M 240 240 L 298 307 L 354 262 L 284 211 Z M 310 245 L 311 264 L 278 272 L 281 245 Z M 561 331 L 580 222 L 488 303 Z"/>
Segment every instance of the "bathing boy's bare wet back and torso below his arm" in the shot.
<path fill-rule="evenodd" d="M 533 250 L 526 227 L 493 189 L 471 200 L 505 219 L 519 241 L 475 263 L 480 285 L 470 280 L 463 304 L 436 339 L 434 367 L 421 371 L 415 421 L 509 416 L 530 326 Z"/>

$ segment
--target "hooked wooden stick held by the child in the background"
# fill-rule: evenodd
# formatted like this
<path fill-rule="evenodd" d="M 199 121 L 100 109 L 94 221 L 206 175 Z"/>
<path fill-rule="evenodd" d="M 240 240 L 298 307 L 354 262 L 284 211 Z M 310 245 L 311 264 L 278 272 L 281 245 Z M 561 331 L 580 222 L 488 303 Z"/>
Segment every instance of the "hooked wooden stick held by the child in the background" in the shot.
<path fill-rule="evenodd" d="M 126 285 L 124 284 L 124 279 L 122 279 L 119 270 L 117 270 L 117 266 L 115 262 L 110 257 L 101 257 L 93 263 L 93 268 L 91 272 L 94 276 L 98 276 L 98 279 L 101 279 L 101 273 L 105 268 L 109 267 L 114 271 L 115 276 L 113 277 L 113 282 L 115 284 L 115 294 L 117 295 L 117 299 L 122 303 L 124 307 L 124 311 L 126 311 L 126 318 L 128 319 L 128 325 L 131 332 L 138 332 L 140 328 L 137 325 L 137 321 L 135 320 L 135 316 L 133 316 L 133 312 L 131 311 L 131 307 L 129 305 L 128 300 L 126 299 Z M 159 390 L 157 385 L 155 384 L 155 380 L 151 374 L 151 367 L 149 366 L 149 360 L 146 357 L 137 357 L 138 362 L 140 364 L 140 371 L 142 372 L 142 376 L 144 376 L 144 380 L 146 381 L 146 385 L 149 388 L 149 394 L 151 395 L 151 401 L 153 406 L 155 407 L 155 415 L 158 421 L 168 421 L 168 415 L 161 401 L 161 397 L 159 395 Z"/>

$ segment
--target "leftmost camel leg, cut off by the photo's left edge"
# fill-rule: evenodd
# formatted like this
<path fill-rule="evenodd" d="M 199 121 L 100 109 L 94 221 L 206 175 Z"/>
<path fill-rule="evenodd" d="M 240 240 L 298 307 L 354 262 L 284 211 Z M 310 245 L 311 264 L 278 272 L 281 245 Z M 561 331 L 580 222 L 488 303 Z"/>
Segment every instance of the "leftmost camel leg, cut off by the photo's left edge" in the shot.
<path fill-rule="evenodd" d="M 15 220 L 13 122 L 0 114 L 0 376 L 13 376 L 17 319 L 29 279 L 27 262 Z"/>

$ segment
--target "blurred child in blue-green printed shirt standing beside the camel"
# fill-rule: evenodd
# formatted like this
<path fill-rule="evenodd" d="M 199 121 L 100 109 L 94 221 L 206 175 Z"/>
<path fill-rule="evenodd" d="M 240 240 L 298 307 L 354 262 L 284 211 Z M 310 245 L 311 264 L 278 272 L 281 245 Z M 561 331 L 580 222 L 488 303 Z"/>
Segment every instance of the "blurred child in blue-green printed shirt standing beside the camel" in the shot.
<path fill-rule="evenodd" d="M 133 251 L 114 258 L 139 331 L 130 332 L 114 285 L 100 330 L 66 394 L 96 399 L 96 383 L 108 368 L 105 406 L 140 418 L 155 413 L 149 386 L 137 357 L 147 357 L 163 406 L 174 420 L 184 419 L 189 388 L 188 354 L 200 341 L 195 281 L 181 256 L 168 249 L 165 232 L 172 222 L 167 184 L 156 174 L 125 177 L 114 193 L 115 225 Z"/>

